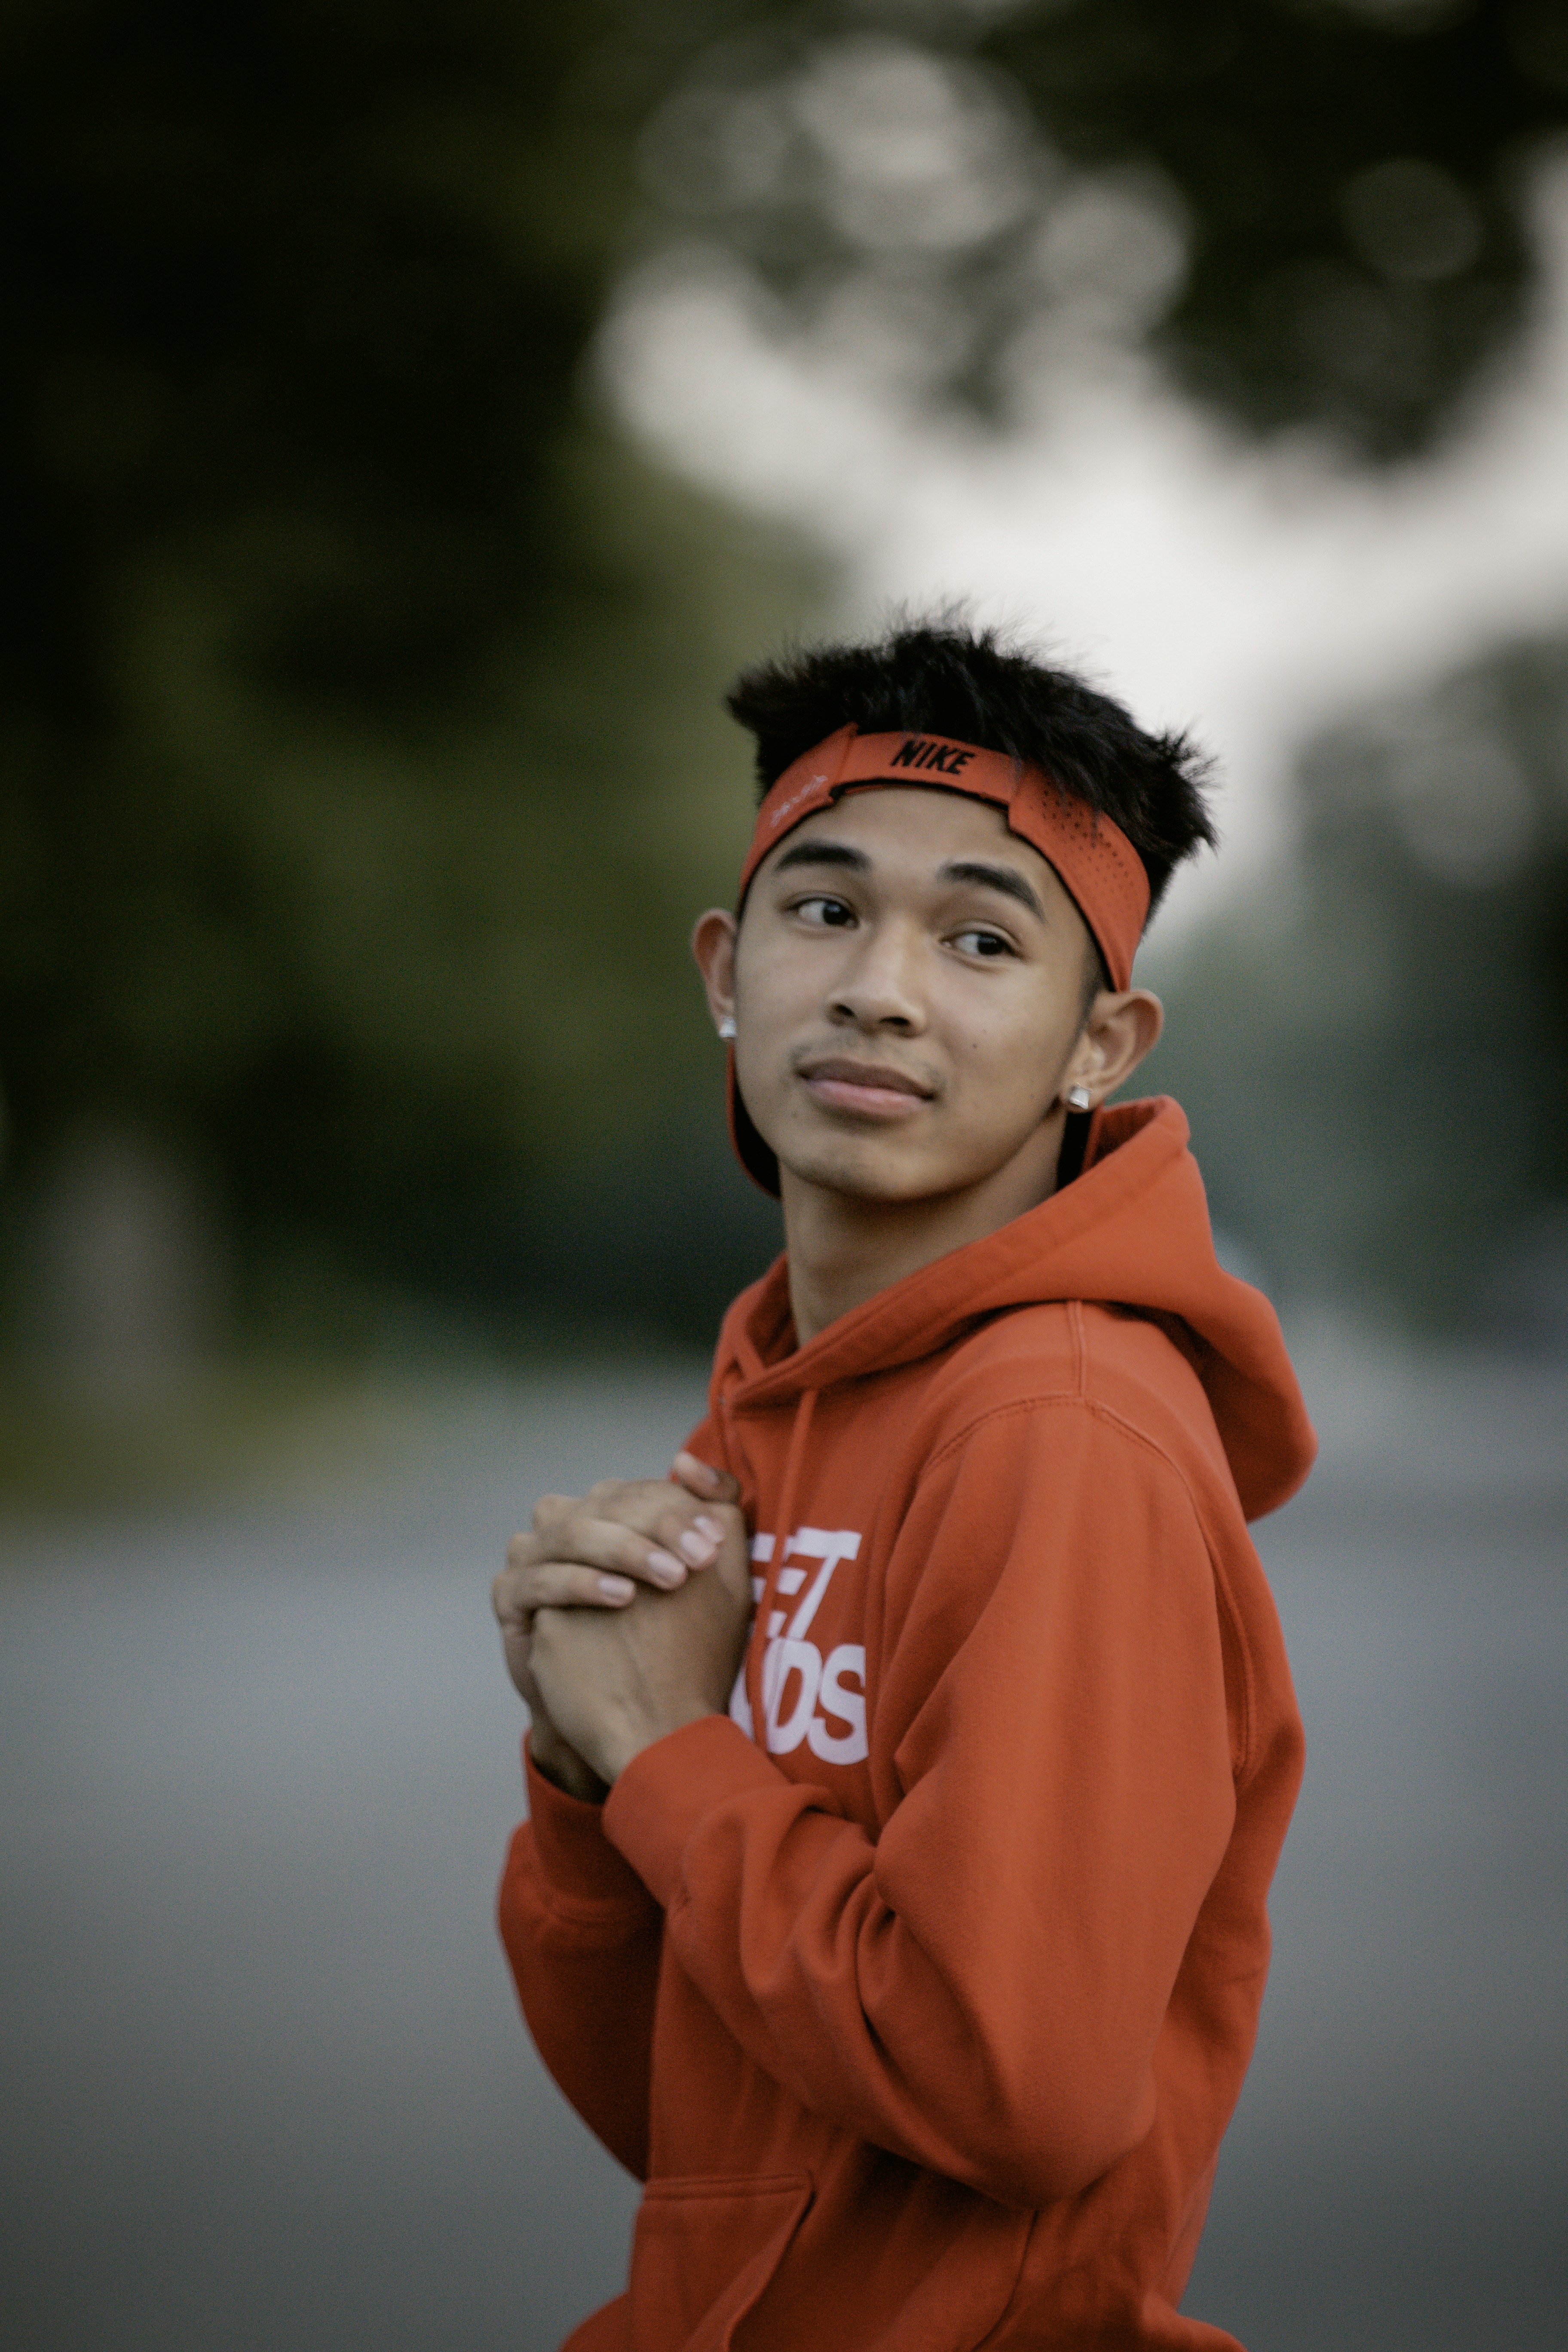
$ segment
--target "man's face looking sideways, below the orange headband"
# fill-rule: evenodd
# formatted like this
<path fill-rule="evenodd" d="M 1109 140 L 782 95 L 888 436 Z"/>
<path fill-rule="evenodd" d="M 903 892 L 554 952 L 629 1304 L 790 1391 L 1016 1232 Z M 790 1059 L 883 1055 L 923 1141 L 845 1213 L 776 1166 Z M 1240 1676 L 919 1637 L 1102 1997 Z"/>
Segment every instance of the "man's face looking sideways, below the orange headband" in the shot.
<path fill-rule="evenodd" d="M 849 793 L 778 844 L 745 901 L 745 1108 L 799 1183 L 917 1202 L 1011 1169 L 1044 1197 L 1088 955 L 1084 917 L 1001 809 Z"/>

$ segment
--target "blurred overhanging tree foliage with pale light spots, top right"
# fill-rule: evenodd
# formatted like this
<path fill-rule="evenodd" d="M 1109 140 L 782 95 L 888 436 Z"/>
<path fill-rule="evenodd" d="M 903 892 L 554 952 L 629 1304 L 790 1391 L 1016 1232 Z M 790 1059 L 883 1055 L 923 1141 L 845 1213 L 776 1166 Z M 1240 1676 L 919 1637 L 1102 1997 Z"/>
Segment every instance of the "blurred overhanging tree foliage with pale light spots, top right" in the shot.
<path fill-rule="evenodd" d="M 644 132 L 780 329 L 1006 409 L 1086 332 L 1255 430 L 1410 454 L 1528 320 L 1561 0 L 759 9 Z"/>

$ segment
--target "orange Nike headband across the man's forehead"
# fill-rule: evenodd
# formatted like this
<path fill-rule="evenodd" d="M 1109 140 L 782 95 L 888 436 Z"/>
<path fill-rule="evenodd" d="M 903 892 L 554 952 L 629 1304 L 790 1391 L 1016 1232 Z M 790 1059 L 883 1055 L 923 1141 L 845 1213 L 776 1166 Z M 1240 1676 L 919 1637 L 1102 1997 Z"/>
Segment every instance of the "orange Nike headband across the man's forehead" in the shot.
<path fill-rule="evenodd" d="M 792 760 L 757 809 L 741 868 L 741 901 L 769 849 L 842 793 L 877 783 L 924 783 L 1006 809 L 1009 830 L 1056 868 L 1095 936 L 1112 988 L 1131 988 L 1133 955 L 1150 913 L 1150 877 L 1121 826 L 1095 816 L 1039 767 L 950 736 L 877 734 L 839 727 Z"/>

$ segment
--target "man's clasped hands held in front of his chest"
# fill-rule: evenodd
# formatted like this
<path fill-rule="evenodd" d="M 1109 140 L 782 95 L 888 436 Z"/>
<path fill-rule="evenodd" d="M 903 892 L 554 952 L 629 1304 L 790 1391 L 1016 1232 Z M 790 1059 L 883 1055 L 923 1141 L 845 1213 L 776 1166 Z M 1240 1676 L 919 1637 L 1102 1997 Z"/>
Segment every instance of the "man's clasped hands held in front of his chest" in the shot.
<path fill-rule="evenodd" d="M 693 1454 L 672 1477 L 543 1496 L 491 1590 L 534 1762 L 590 1802 L 668 1731 L 722 1715 L 741 1665 L 752 1583 L 738 1486 Z"/>

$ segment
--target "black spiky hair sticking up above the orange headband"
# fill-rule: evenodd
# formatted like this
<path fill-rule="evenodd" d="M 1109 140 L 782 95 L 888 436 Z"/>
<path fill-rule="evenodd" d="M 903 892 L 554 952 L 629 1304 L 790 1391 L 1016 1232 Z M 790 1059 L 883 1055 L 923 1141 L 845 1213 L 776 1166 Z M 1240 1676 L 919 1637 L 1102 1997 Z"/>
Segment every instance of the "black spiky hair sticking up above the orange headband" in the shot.
<path fill-rule="evenodd" d="M 875 644 L 788 649 L 743 670 L 726 710 L 757 739 L 757 797 L 792 760 L 853 724 L 936 734 L 1044 767 L 1121 826 L 1150 877 L 1150 913 L 1173 870 L 1215 847 L 1211 760 L 1185 734 L 1147 734 L 1124 703 L 1056 670 L 961 609 L 893 616 Z"/>

